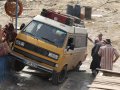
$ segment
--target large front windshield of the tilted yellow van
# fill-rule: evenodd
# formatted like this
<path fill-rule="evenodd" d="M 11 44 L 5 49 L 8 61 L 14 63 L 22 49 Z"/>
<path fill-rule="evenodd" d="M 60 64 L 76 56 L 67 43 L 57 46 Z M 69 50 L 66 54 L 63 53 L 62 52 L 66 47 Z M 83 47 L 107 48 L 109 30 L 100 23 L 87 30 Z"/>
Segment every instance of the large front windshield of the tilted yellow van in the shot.
<path fill-rule="evenodd" d="M 63 46 L 67 35 L 67 32 L 59 28 L 35 20 L 29 23 L 28 26 L 24 28 L 22 33 L 26 33 L 32 37 L 43 40 L 58 47 Z"/>

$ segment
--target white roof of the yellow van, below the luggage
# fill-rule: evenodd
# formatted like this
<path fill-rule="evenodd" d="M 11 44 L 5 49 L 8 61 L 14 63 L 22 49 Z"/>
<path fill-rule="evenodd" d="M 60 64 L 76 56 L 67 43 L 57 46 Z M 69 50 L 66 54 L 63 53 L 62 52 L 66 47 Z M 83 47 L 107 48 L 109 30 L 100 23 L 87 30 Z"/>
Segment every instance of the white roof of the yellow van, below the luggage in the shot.
<path fill-rule="evenodd" d="M 65 25 L 63 23 L 60 23 L 58 21 L 55 21 L 55 20 L 52 20 L 52 19 L 49 19 L 49 18 L 46 18 L 46 17 L 43 17 L 41 15 L 37 15 L 36 17 L 33 18 L 33 20 L 36 20 L 36 21 L 40 21 L 42 23 L 45 23 L 45 24 L 48 24 L 48 25 L 51 25 L 51 26 L 54 26 L 54 27 L 57 27 L 57 28 L 60 28 L 68 33 L 74 33 L 74 27 L 75 26 L 68 26 L 68 25 Z M 80 31 L 80 30 L 79 30 Z M 81 32 L 81 31 L 80 31 Z M 77 33 L 80 33 L 77 31 Z M 85 30 L 85 33 L 86 33 L 86 30 Z"/>

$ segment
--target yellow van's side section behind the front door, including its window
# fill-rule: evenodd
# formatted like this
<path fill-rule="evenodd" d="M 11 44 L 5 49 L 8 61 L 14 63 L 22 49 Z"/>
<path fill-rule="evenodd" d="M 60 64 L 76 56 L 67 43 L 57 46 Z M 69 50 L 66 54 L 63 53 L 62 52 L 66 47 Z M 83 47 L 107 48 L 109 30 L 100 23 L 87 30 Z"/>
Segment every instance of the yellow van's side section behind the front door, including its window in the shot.
<path fill-rule="evenodd" d="M 73 52 L 72 66 L 75 67 L 79 62 L 82 62 L 87 50 L 87 34 L 75 34 L 75 47 Z"/>

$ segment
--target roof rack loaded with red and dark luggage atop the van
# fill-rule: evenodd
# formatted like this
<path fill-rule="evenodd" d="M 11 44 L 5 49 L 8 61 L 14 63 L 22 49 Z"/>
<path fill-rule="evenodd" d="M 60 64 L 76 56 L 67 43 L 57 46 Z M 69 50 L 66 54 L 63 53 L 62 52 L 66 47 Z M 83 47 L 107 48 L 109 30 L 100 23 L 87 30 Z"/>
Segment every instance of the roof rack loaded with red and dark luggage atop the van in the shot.
<path fill-rule="evenodd" d="M 47 10 L 43 9 L 41 12 L 41 15 L 53 20 L 56 20 L 60 23 L 73 26 L 75 24 L 80 24 L 81 20 L 75 16 L 67 15 L 67 14 L 61 14 L 59 12 L 55 12 L 53 10 Z"/>

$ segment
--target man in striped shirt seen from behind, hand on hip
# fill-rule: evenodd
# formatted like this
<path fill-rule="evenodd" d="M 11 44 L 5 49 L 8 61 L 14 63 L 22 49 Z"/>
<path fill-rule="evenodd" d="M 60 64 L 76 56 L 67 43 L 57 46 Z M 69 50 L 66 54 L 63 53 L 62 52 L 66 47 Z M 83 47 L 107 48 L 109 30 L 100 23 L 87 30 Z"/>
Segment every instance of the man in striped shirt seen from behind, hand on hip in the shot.
<path fill-rule="evenodd" d="M 101 46 L 98 51 L 98 54 L 101 56 L 100 66 L 102 69 L 112 70 L 113 63 L 116 62 L 120 55 L 117 50 L 112 47 L 110 39 L 106 39 L 104 42 L 106 45 Z"/>

